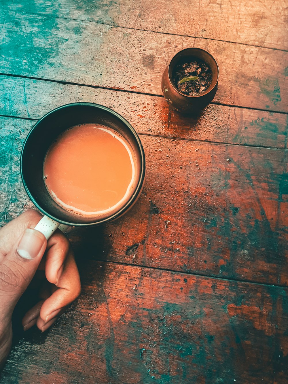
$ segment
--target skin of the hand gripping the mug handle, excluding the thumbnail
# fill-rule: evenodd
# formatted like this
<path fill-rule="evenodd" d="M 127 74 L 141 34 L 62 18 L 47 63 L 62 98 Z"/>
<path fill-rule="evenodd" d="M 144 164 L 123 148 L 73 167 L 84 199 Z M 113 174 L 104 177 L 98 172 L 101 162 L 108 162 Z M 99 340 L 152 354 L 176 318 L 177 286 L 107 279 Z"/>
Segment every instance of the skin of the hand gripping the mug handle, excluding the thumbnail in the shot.
<path fill-rule="evenodd" d="M 13 310 L 34 276 L 43 284 L 38 292 L 39 302 L 27 308 L 22 319 L 24 331 L 35 324 L 40 331 L 46 331 L 81 291 L 73 251 L 59 230 L 47 241 L 35 231 L 40 248 L 32 260 L 18 254 L 23 233 L 34 228 L 41 217 L 35 210 L 27 210 L 0 229 L 0 368 L 11 348 Z"/>

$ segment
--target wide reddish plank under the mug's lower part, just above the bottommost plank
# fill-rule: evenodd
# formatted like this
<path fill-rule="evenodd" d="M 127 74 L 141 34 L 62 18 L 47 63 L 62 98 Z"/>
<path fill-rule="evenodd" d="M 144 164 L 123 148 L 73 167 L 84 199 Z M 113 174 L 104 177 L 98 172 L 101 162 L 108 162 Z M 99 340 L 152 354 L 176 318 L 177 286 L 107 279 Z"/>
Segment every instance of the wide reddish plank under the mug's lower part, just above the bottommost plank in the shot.
<path fill-rule="evenodd" d="M 0 167 L 2 225 L 31 207 L 17 167 L 22 132 L 32 124 L 1 118 L 8 148 Z M 141 141 L 147 177 L 139 201 L 114 223 L 71 230 L 76 250 L 92 259 L 287 285 L 287 150 Z"/>

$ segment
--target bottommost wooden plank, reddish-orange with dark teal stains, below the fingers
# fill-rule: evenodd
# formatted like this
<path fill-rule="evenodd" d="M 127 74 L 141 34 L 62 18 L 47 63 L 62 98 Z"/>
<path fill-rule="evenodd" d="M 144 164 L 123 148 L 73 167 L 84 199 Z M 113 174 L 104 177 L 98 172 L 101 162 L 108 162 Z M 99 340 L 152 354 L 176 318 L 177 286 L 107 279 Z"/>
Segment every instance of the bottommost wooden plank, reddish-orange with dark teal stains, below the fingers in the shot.
<path fill-rule="evenodd" d="M 286 382 L 287 289 L 81 264 L 78 302 L 19 334 L 2 384 Z"/>

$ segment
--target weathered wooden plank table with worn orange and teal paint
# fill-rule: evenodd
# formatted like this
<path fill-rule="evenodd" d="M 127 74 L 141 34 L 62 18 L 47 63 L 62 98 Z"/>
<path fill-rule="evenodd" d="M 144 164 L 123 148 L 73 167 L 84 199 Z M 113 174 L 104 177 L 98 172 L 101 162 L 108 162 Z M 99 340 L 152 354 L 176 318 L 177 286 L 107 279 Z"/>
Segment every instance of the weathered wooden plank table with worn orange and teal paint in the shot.
<path fill-rule="evenodd" d="M 285 6 L 1 3 L 1 225 L 33 206 L 20 151 L 57 106 L 113 108 L 147 156 L 128 214 L 68 233 L 83 292 L 49 331 L 15 328 L 1 383 L 288 382 Z M 161 94 L 167 63 L 190 46 L 220 68 L 199 118 Z"/>

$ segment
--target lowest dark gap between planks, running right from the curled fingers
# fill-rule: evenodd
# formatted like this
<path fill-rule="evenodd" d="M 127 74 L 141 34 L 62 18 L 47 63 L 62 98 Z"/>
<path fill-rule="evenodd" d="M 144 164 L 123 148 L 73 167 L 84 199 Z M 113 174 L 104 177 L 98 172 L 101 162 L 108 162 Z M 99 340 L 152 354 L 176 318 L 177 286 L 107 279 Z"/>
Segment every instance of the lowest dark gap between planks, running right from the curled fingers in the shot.
<path fill-rule="evenodd" d="M 77 261 L 77 255 L 76 255 L 76 261 Z M 214 280 L 232 281 L 235 283 L 271 286 L 271 287 L 283 288 L 283 289 L 287 290 L 287 293 L 288 293 L 288 286 L 287 285 L 281 285 L 281 284 L 258 283 L 256 281 L 250 281 L 250 280 L 245 280 L 245 279 L 243 279 L 243 280 L 242 279 L 233 279 L 233 278 L 229 278 L 229 277 L 205 275 L 204 273 L 196 273 L 196 272 L 183 272 L 183 271 L 178 271 L 178 270 L 169 269 L 169 268 L 159 268 L 159 267 L 155 267 L 155 266 L 148 266 L 148 265 L 141 265 L 141 264 L 121 263 L 121 262 L 116 262 L 113 260 L 97 259 L 97 260 L 88 260 L 88 261 L 89 262 L 101 262 L 101 263 L 107 263 L 107 264 L 111 263 L 111 264 L 117 264 L 117 265 L 125 265 L 125 266 L 134 267 L 134 268 L 145 268 L 145 269 L 151 269 L 151 270 L 166 271 L 166 272 L 171 272 L 171 273 L 178 273 L 181 275 L 199 276 L 199 277 L 214 279 Z"/>

